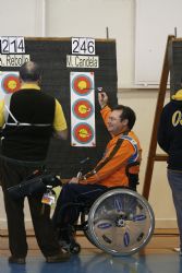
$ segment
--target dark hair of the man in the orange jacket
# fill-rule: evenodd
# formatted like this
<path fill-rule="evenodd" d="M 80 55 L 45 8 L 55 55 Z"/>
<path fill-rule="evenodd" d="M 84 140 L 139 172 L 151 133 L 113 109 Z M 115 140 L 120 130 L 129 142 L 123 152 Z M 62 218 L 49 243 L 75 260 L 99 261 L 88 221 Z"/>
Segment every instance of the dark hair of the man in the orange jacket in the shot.
<path fill-rule="evenodd" d="M 129 106 L 124 106 L 124 105 L 117 105 L 116 107 L 112 108 L 112 110 L 122 110 L 120 119 L 121 121 L 123 121 L 124 119 L 128 119 L 129 120 L 128 127 L 130 130 L 132 130 L 136 120 L 136 115 L 134 110 L 132 110 L 132 108 L 130 108 Z"/>

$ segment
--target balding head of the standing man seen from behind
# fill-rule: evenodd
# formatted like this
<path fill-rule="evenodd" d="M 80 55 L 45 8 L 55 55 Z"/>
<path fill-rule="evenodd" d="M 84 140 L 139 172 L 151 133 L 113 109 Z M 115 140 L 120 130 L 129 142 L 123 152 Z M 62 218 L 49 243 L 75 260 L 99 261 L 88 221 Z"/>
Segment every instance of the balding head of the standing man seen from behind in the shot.
<path fill-rule="evenodd" d="M 40 80 L 41 69 L 38 63 L 28 61 L 20 68 L 20 78 L 24 82 L 36 82 Z"/>

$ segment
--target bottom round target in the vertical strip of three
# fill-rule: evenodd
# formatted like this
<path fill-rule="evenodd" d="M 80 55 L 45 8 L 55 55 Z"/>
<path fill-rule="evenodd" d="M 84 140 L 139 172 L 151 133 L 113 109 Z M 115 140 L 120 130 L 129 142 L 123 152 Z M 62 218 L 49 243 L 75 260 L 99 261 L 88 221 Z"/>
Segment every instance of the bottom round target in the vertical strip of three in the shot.
<path fill-rule="evenodd" d="M 86 144 L 93 140 L 94 131 L 89 124 L 78 123 L 73 129 L 73 136 L 78 143 Z"/>

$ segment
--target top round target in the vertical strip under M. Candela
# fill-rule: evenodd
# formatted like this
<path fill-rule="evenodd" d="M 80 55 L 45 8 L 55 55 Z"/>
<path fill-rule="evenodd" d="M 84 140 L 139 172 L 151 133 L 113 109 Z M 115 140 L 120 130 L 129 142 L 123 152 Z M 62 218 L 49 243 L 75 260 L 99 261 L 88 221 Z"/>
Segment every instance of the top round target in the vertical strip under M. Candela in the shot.
<path fill-rule="evenodd" d="M 72 82 L 72 88 L 78 95 L 88 95 L 93 90 L 93 83 L 90 78 L 82 74 L 75 76 Z"/>

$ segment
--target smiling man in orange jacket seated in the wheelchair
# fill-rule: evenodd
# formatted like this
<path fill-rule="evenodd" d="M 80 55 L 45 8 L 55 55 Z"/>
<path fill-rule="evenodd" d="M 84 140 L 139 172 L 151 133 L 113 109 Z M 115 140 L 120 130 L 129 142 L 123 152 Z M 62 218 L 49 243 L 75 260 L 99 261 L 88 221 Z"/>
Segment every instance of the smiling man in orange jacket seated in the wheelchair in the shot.
<path fill-rule="evenodd" d="M 138 183 L 142 150 L 137 136 L 131 131 L 136 119 L 135 112 L 123 105 L 111 110 L 105 92 L 98 94 L 98 102 L 111 140 L 96 167 L 86 175 L 73 177 L 61 190 L 52 217 L 61 244 L 69 244 L 70 233 L 80 216 L 80 206 L 74 206 L 74 202 L 94 202 L 112 187 L 136 190 Z"/>

